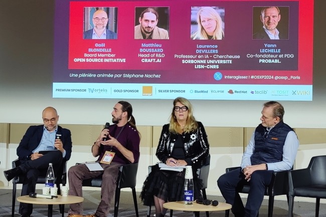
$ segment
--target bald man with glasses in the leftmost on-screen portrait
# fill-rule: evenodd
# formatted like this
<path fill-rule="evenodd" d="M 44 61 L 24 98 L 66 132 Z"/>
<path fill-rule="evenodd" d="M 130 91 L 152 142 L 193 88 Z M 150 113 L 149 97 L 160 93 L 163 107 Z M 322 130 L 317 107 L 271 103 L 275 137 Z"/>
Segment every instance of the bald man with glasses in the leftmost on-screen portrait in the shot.
<path fill-rule="evenodd" d="M 107 23 L 109 18 L 104 10 L 97 10 L 93 14 L 93 29 L 85 31 L 83 39 L 117 39 L 117 34 L 108 30 Z"/>

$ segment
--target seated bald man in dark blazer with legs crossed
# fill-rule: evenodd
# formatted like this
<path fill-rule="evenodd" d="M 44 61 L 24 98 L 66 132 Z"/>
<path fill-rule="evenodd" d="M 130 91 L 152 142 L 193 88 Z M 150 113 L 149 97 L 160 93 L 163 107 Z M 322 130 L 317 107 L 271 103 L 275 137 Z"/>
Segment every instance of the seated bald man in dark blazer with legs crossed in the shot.
<path fill-rule="evenodd" d="M 59 115 L 53 107 L 47 107 L 42 112 L 44 125 L 30 126 L 17 148 L 20 166 L 4 171 L 8 181 L 15 176 L 23 175 L 24 183 L 22 195 L 35 192 L 38 176 L 46 175 L 49 163 L 53 164 L 55 175 L 62 168 L 63 160 L 71 156 L 70 130 L 58 126 Z M 46 154 L 40 151 L 48 151 Z M 21 203 L 19 212 L 22 217 L 29 217 L 33 212 L 33 205 Z"/>

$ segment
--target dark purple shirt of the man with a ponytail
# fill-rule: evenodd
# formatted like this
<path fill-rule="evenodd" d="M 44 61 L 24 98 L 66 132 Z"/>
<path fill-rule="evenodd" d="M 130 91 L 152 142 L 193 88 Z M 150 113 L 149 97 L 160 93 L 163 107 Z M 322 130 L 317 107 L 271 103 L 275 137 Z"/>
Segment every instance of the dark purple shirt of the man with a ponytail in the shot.
<path fill-rule="evenodd" d="M 123 129 L 122 129 L 123 128 Z M 122 129 L 122 131 L 121 131 Z M 138 162 L 139 159 L 139 143 L 140 143 L 140 136 L 138 131 L 134 129 L 128 123 L 122 127 L 118 127 L 116 124 L 110 125 L 109 127 L 110 135 L 118 140 L 121 145 L 123 145 L 126 149 L 133 153 L 134 162 Z M 120 132 L 121 131 L 121 132 Z M 120 134 L 119 134 L 120 133 Z M 119 136 L 118 136 L 119 135 Z M 117 138 L 118 136 L 118 138 Z M 98 157 L 98 161 L 100 161 L 105 153 L 105 151 L 110 151 L 111 146 L 109 145 L 101 145 L 101 154 Z M 115 153 L 112 162 L 118 162 L 121 164 L 128 164 L 130 163 L 127 158 L 121 154 L 121 152 L 112 146 L 112 152 Z"/>

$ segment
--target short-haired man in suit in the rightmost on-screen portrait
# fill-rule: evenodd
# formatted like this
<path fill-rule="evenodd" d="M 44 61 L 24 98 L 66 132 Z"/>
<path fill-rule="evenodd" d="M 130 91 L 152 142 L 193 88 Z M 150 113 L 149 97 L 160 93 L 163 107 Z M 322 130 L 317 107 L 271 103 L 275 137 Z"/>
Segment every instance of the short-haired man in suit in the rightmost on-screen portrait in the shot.
<path fill-rule="evenodd" d="M 287 34 L 277 28 L 280 21 L 281 14 L 278 7 L 264 7 L 260 13 L 260 22 L 263 26 L 253 34 L 252 39 L 288 39 Z"/>

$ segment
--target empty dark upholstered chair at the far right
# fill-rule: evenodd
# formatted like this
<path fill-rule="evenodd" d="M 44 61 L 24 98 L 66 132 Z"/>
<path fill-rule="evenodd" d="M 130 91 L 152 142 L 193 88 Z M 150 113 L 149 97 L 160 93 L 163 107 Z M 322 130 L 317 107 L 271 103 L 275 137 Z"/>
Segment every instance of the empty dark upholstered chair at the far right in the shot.
<path fill-rule="evenodd" d="M 316 213 L 319 215 L 320 198 L 326 198 L 326 155 L 314 156 L 305 169 L 288 172 L 289 212 L 293 214 L 294 196 L 316 198 Z"/>

